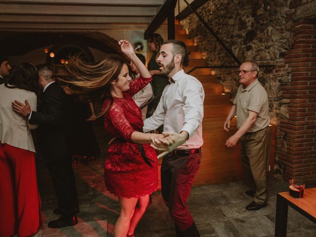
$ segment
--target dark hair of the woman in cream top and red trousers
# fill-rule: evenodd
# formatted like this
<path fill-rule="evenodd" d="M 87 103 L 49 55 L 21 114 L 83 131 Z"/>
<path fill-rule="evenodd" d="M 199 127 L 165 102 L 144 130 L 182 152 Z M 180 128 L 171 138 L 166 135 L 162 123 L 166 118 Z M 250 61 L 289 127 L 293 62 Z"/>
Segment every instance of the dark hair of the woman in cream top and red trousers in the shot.
<path fill-rule="evenodd" d="M 39 74 L 31 63 L 19 63 L 11 71 L 5 82 L 8 88 L 19 88 L 39 94 Z"/>

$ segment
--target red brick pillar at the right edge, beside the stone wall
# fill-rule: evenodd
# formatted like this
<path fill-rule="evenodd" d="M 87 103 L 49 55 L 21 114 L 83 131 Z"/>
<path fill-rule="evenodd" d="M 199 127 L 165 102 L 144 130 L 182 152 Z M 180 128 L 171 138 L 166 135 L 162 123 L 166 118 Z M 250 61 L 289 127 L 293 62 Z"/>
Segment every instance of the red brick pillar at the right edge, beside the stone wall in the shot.
<path fill-rule="evenodd" d="M 284 179 L 316 181 L 316 25 L 296 23 L 292 29 L 292 50 L 284 62 L 291 68 L 291 83 L 283 86 L 289 99 L 289 116 L 280 120 L 283 148 L 279 161 Z"/>

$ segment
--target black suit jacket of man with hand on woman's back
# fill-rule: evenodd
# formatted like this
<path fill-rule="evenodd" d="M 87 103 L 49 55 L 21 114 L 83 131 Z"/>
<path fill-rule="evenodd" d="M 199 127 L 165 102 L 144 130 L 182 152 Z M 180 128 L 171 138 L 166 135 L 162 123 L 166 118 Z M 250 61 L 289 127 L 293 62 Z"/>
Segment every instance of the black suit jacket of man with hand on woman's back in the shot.
<path fill-rule="evenodd" d="M 41 153 L 48 162 L 70 158 L 68 154 L 70 108 L 66 93 L 57 82 L 43 93 L 40 112 L 32 111 L 30 123 L 38 124 Z"/>

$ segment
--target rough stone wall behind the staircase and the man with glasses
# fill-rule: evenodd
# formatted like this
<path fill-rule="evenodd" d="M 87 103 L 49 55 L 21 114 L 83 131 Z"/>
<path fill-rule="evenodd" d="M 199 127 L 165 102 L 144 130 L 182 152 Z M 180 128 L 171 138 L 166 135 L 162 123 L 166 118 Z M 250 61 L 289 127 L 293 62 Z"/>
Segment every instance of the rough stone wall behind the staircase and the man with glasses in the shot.
<path fill-rule="evenodd" d="M 300 18 L 315 17 L 315 4 L 316 0 L 210 0 L 197 10 L 241 62 L 276 65 L 260 68 L 259 80 L 268 92 L 271 121 L 278 125 L 276 169 L 282 173 L 286 164 L 278 157 L 284 143 L 279 124 L 290 114 L 290 99 L 282 92 L 284 86 L 290 85 L 292 66 L 284 61 L 284 56 L 293 46 L 293 27 Z M 237 65 L 195 14 L 181 24 L 195 39 L 198 50 L 204 52 L 209 66 Z M 232 99 L 238 87 L 238 75 L 234 72 L 237 69 L 215 70 L 217 82 L 232 93 Z"/>

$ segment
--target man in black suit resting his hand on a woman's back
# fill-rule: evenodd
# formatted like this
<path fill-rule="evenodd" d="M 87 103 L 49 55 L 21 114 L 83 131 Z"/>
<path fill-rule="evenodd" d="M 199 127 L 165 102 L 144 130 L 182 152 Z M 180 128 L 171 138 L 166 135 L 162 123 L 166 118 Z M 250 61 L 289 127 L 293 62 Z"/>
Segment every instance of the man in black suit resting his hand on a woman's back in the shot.
<path fill-rule="evenodd" d="M 38 124 L 39 146 L 46 160 L 58 208 L 55 214 L 62 216 L 48 223 L 49 228 L 62 228 L 78 223 L 79 213 L 72 159 L 68 153 L 70 108 L 64 90 L 55 82 L 53 70 L 47 65 L 38 67 L 40 85 L 43 89 L 40 112 L 31 111 L 27 101 L 12 103 L 17 113 L 26 116 L 32 124 Z"/>

